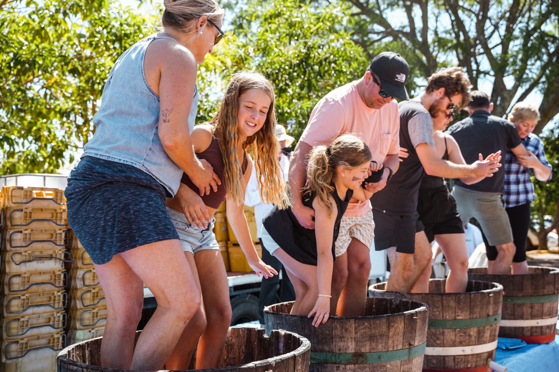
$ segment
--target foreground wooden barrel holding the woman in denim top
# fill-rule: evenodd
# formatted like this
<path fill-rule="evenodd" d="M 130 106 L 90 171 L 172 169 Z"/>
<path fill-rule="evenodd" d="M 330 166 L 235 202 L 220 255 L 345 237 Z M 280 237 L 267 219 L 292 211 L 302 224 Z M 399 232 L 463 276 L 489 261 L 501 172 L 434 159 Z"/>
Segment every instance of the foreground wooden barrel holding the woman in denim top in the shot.
<path fill-rule="evenodd" d="M 140 332 L 136 332 L 136 340 Z M 56 359 L 58 372 L 118 371 L 99 366 L 102 340 L 103 337 L 97 337 L 60 351 Z M 308 372 L 309 360 L 310 342 L 305 337 L 287 331 L 273 331 L 268 337 L 262 328 L 231 327 L 219 362 L 219 371 Z M 210 372 L 216 369 L 200 371 Z"/>

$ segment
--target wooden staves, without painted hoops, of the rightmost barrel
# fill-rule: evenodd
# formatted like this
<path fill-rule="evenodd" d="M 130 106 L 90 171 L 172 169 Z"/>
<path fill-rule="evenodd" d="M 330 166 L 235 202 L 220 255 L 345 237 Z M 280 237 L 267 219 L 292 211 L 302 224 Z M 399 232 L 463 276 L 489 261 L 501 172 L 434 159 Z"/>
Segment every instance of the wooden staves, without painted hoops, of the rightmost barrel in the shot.
<path fill-rule="evenodd" d="M 487 268 L 471 268 L 468 277 L 491 280 L 503 285 L 505 297 L 544 296 L 559 294 L 559 269 L 529 266 L 529 274 L 496 275 L 487 274 Z M 540 303 L 503 303 L 503 320 L 535 320 L 557 316 L 559 301 Z M 556 324 L 529 327 L 499 328 L 500 337 L 531 337 L 555 334 Z M 553 337 L 551 337 L 552 339 Z M 528 343 L 532 343 L 528 341 Z"/>

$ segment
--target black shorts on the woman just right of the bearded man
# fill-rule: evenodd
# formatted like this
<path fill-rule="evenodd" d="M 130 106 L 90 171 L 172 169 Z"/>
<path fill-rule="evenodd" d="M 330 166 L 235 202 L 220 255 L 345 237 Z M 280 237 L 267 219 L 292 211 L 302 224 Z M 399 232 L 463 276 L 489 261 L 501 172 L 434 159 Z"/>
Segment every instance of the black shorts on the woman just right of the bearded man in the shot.
<path fill-rule="evenodd" d="M 438 234 L 463 234 L 462 219 L 456 210 L 456 201 L 446 186 L 419 190 L 419 220 L 425 226 L 429 243 Z"/>

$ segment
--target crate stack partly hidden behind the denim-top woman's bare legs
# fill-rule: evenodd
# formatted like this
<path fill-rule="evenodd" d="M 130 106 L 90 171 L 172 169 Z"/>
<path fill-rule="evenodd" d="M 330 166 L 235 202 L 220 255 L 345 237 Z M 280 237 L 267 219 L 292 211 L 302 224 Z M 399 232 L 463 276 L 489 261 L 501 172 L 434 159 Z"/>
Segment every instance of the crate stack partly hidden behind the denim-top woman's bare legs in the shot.
<path fill-rule="evenodd" d="M 67 249 L 72 262 L 68 268 L 67 345 L 100 337 L 105 331 L 107 303 L 93 262 L 72 230 Z"/>

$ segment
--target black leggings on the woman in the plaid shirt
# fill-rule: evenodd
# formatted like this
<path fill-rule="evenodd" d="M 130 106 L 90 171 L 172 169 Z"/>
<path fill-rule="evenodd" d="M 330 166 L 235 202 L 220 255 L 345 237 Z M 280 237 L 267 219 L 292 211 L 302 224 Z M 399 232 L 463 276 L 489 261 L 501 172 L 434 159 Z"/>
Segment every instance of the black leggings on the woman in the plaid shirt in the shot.
<path fill-rule="evenodd" d="M 526 243 L 528 241 L 528 229 L 530 228 L 530 203 L 505 208 L 509 215 L 510 228 L 513 230 L 514 245 L 517 248 L 514 253 L 513 262 L 524 262 L 526 260 Z M 497 259 L 497 249 L 494 245 L 489 245 L 485 234 L 485 247 L 487 247 L 487 259 L 494 261 Z"/>

